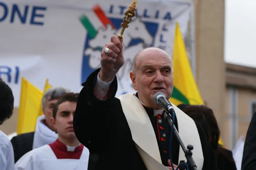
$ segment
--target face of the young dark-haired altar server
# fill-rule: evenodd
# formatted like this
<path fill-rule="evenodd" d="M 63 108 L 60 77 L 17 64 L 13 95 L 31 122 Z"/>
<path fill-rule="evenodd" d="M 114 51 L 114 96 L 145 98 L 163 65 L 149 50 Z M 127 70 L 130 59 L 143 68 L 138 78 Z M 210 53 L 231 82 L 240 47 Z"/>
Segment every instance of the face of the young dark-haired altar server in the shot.
<path fill-rule="evenodd" d="M 65 139 L 76 139 L 73 129 L 73 118 L 75 114 L 76 102 L 63 102 L 59 104 L 56 118 L 52 119 L 52 124 L 56 128 L 58 135 Z"/>

